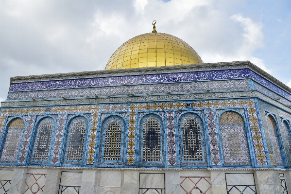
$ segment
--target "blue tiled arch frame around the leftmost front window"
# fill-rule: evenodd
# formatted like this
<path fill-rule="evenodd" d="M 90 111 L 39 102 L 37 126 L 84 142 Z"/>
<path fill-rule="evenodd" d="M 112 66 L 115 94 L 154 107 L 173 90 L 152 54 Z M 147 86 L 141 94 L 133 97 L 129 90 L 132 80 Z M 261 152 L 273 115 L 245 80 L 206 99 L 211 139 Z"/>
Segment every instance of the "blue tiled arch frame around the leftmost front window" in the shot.
<path fill-rule="evenodd" d="M 8 126 L 9 124 L 14 120 L 14 119 L 17 119 L 17 118 L 20 118 L 23 120 L 24 122 L 24 128 L 23 128 L 23 131 L 22 131 L 22 134 L 21 134 L 21 137 L 20 137 L 20 143 L 19 143 L 19 148 L 18 148 L 18 151 L 17 151 L 17 157 L 16 157 L 16 160 L 0 160 L 1 162 L 3 163 L 16 163 L 19 159 L 19 155 L 20 155 L 20 151 L 21 151 L 21 147 L 22 147 L 22 142 L 23 142 L 23 136 L 24 136 L 24 133 L 25 133 L 25 130 L 26 130 L 26 125 L 27 125 L 27 122 L 26 120 L 21 117 L 21 116 L 15 116 L 15 117 L 12 117 L 12 118 L 9 118 L 9 120 L 6 118 L 6 124 L 5 124 L 5 127 L 3 127 L 3 131 L 0 135 L 1 139 L 0 139 L 0 159 L 2 158 L 2 153 L 3 153 L 3 149 L 4 149 L 4 144 L 5 144 L 5 141 L 6 141 L 6 138 L 7 138 L 7 133 L 8 133 Z"/>

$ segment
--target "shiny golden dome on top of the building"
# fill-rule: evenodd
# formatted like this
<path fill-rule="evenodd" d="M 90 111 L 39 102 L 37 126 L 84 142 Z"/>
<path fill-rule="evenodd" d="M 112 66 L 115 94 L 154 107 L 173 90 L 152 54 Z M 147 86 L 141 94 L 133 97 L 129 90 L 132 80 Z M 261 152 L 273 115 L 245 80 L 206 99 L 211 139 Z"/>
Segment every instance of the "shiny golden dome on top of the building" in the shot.
<path fill-rule="evenodd" d="M 200 56 L 180 38 L 164 33 L 147 33 L 122 44 L 108 60 L 105 70 L 200 63 L 203 63 Z"/>

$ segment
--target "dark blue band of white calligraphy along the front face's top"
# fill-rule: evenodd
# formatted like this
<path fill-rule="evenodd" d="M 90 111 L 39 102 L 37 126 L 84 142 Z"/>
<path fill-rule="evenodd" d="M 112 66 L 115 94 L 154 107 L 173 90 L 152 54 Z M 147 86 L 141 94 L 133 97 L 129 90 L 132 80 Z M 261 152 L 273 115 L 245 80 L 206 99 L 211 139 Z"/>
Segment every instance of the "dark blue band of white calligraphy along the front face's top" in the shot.
<path fill-rule="evenodd" d="M 250 73 L 248 69 L 164 73 L 152 75 L 134 75 L 134 76 L 13 83 L 10 86 L 10 91 L 81 88 L 96 86 L 118 86 L 130 84 L 152 84 L 152 83 L 184 82 L 184 81 L 200 81 L 216 79 L 235 79 L 235 78 L 247 78 L 249 76 Z"/>

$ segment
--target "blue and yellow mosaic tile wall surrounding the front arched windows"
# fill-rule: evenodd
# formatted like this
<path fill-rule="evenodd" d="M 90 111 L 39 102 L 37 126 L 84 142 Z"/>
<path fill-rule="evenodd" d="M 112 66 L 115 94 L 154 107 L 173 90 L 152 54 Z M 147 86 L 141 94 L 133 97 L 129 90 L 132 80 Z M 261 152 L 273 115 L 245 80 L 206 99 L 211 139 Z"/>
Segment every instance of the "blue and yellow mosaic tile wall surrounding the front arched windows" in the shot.
<path fill-rule="evenodd" d="M 124 137 L 124 163 L 122 165 L 112 164 L 117 167 L 144 167 L 144 168 L 239 168 L 266 167 L 269 154 L 266 147 L 264 133 L 260 117 L 257 113 L 256 100 L 250 99 L 227 99 L 227 100 L 195 100 L 195 101 L 169 101 L 169 102 L 143 102 L 143 103 L 121 103 L 105 105 L 78 105 L 78 106 L 47 106 L 47 107 L 15 107 L 1 108 L 0 113 L 0 143 L 5 142 L 7 122 L 9 118 L 27 117 L 25 129 L 19 145 L 16 162 L 2 162 L 0 165 L 28 165 L 31 157 L 34 141 L 31 135 L 37 131 L 36 118 L 54 115 L 56 118 L 55 133 L 52 137 L 51 157 L 48 163 L 30 163 L 29 165 L 54 165 L 54 166 L 106 166 L 99 163 L 103 149 L 100 147 L 101 131 L 103 119 L 108 116 L 120 115 L 125 121 Z M 249 145 L 249 165 L 232 163 L 225 160 L 223 155 L 223 145 L 220 142 L 223 137 L 219 128 L 219 116 L 224 111 L 233 110 L 240 113 L 244 118 L 246 141 Z M 142 148 L 143 126 L 141 121 L 146 115 L 156 115 L 162 121 L 160 132 L 160 162 L 143 162 L 140 148 Z M 287 114 L 287 113 L 285 113 Z M 102 117 L 102 115 L 104 115 Z M 201 141 L 203 151 L 203 161 L 188 161 L 183 159 L 185 145 L 183 145 L 183 135 L 181 136 L 180 119 L 183 115 L 196 115 L 199 118 L 201 133 L 199 138 L 192 141 Z M 199 117 L 197 116 L 199 115 Z M 76 116 L 84 116 L 88 120 L 84 142 L 84 153 L 81 163 L 68 163 L 65 161 L 66 148 L 70 120 Z M 261 114 L 260 114 L 261 116 Z M 288 115 L 285 115 L 285 118 Z M 10 119 L 10 120 L 11 120 Z M 35 126 L 34 126 L 35 125 Z M 3 133 L 2 133 L 3 131 Z M 153 134 L 152 134 L 153 135 Z M 193 134 L 192 134 L 193 135 Z M 152 137 L 152 136 L 150 136 Z M 154 138 L 153 136 L 152 138 Z M 191 136 L 192 137 L 192 136 Z M 194 136 L 193 136 L 194 137 Z M 198 136 L 197 136 L 198 137 Z M 200 139 L 201 138 L 201 139 Z M 281 137 L 280 137 L 281 138 Z M 180 141 L 179 141 L 180 139 Z M 181 141 L 182 140 L 182 141 Z M 284 140 L 285 141 L 285 140 Z M 175 143 L 179 142 L 179 143 Z M 280 144 L 280 141 L 278 141 Z M 100 144 L 101 143 L 101 144 Z M 240 141 L 241 143 L 241 141 Z M 200 145 L 200 144 L 199 144 Z M 151 147 L 151 145 L 145 145 Z M 101 148 L 101 151 L 100 151 Z M 150 148 L 149 148 L 150 149 Z M 190 148 L 189 148 L 190 149 Z M 282 155 L 283 156 L 283 155 Z M 84 159 L 83 159 L 84 158 Z M 284 156 L 283 156 L 284 159 Z M 78 160 L 80 161 L 80 160 Z M 153 165 L 153 163 L 155 165 Z"/>

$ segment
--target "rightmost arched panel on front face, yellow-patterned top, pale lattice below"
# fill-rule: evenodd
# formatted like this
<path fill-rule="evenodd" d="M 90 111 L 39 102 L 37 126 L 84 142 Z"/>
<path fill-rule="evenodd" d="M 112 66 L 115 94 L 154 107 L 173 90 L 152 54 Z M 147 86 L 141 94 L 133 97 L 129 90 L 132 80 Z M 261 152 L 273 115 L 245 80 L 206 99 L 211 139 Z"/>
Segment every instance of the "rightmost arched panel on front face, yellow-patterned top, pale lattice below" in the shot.
<path fill-rule="evenodd" d="M 235 111 L 219 117 L 225 165 L 250 165 L 249 149 L 243 118 Z"/>

